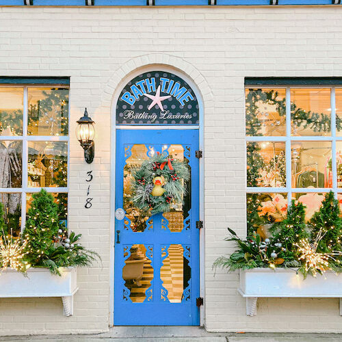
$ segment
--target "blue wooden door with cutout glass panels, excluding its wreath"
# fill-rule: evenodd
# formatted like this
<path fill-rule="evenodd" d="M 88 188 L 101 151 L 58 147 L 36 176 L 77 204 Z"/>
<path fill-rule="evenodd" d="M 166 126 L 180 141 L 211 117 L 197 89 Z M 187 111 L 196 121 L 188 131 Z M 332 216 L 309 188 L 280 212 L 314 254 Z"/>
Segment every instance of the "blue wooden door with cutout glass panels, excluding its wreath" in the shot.
<path fill-rule="evenodd" d="M 198 130 L 116 131 L 114 324 L 198 326 Z M 188 164 L 183 203 L 149 215 L 133 206 L 131 172 L 155 153 Z M 124 209 L 124 215 L 120 209 Z M 124 216 L 124 218 L 123 218 Z"/>

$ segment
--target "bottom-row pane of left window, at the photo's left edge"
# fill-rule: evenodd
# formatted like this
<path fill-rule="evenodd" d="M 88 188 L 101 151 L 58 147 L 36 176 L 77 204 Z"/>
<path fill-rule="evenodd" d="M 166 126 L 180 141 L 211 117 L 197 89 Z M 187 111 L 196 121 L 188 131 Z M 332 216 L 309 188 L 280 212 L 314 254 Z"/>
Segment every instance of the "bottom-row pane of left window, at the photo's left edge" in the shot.
<path fill-rule="evenodd" d="M 0 202 L 3 204 L 3 219 L 5 220 L 3 233 L 18 237 L 21 232 L 21 194 L 1 193 Z"/>

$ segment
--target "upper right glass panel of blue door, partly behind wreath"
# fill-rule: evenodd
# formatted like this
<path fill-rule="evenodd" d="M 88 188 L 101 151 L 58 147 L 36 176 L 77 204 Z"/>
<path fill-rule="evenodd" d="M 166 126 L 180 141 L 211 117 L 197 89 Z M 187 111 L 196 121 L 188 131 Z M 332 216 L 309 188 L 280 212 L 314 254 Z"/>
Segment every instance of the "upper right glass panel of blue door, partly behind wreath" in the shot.
<path fill-rule="evenodd" d="M 179 161 L 185 161 L 187 163 L 190 174 L 191 167 L 189 166 L 190 146 L 182 145 L 164 145 L 162 147 L 163 153 L 167 153 L 171 159 L 177 159 Z M 182 180 L 183 181 L 183 180 Z M 187 192 L 183 195 L 183 203 L 172 201 L 170 203 L 170 211 L 163 213 L 163 220 L 161 221 L 161 228 L 168 228 L 172 233 L 183 231 L 184 226 L 186 229 L 190 228 L 189 210 L 191 208 L 191 177 L 186 182 L 185 188 Z"/>

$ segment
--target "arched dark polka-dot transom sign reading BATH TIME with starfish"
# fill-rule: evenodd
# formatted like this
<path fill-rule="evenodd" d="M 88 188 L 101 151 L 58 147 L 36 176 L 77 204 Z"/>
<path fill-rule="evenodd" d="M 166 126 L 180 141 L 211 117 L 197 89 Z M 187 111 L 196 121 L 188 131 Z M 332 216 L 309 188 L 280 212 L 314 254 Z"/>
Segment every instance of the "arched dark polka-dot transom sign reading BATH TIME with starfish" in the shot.
<path fill-rule="evenodd" d="M 194 90 L 181 77 L 164 71 L 138 75 L 122 89 L 116 124 L 199 124 Z"/>

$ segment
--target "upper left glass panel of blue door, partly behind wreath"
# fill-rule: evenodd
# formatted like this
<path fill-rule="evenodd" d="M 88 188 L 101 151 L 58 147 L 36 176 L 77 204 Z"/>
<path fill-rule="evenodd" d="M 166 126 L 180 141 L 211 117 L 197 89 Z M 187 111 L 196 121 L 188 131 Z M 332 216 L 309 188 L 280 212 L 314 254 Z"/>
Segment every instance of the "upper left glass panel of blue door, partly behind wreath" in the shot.
<path fill-rule="evenodd" d="M 124 166 L 124 198 L 123 208 L 126 212 L 124 218 L 124 229 L 129 229 L 133 232 L 143 232 L 146 228 L 152 229 L 153 222 L 150 219 L 150 211 L 142 210 L 133 205 L 131 182 L 133 179 L 133 170 L 140 168 L 144 160 L 149 159 L 148 153 L 151 153 L 151 148 L 147 148 L 144 144 L 135 144 L 125 147 L 126 159 Z"/>

